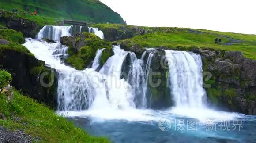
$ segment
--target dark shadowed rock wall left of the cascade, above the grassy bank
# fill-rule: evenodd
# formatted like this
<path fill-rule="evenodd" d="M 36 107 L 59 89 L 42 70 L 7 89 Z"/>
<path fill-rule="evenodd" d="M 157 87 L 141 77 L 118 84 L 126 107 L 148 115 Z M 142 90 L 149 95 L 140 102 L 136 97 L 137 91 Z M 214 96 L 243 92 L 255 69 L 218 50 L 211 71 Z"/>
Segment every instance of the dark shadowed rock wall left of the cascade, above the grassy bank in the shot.
<path fill-rule="evenodd" d="M 44 67 L 44 61 L 14 50 L 2 50 L 0 64 L 3 66 L 3 69 L 11 73 L 12 86 L 22 90 L 39 102 L 44 102 L 53 108 L 56 107 L 57 73 L 55 70 L 51 71 L 48 67 Z M 48 84 L 49 80 L 54 79 L 52 86 L 41 84 L 40 75 L 43 72 L 48 73 L 43 77 L 45 84 Z M 50 76 L 50 73 L 53 76 Z"/>

